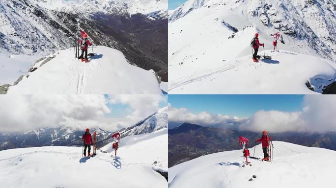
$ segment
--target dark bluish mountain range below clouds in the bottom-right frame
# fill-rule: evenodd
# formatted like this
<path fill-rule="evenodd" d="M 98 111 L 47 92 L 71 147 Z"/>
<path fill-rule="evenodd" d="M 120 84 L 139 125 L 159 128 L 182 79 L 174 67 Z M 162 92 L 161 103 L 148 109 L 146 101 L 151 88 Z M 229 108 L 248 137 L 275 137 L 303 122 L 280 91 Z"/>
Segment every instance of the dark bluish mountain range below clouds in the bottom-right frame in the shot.
<path fill-rule="evenodd" d="M 183 123 L 178 127 L 168 129 L 168 167 L 206 154 L 241 149 L 238 143 L 239 136 L 248 138 L 250 146 L 254 146 L 254 141 L 261 137 L 261 133 L 211 126 L 204 127 L 191 123 Z M 304 146 L 336 150 L 336 132 L 324 134 L 269 133 L 269 136 L 274 141 L 286 141 Z"/>

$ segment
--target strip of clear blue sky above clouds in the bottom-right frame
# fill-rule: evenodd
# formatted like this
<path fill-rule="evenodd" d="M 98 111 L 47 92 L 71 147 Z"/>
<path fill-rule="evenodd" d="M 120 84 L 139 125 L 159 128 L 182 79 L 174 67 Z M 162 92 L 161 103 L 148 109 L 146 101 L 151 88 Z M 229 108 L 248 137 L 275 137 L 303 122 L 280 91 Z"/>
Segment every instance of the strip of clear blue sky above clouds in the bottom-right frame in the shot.
<path fill-rule="evenodd" d="M 237 117 L 251 117 L 259 110 L 301 111 L 304 95 L 251 94 L 202 95 L 171 94 L 168 103 L 174 108 L 187 108 L 194 113 L 209 112 Z"/>

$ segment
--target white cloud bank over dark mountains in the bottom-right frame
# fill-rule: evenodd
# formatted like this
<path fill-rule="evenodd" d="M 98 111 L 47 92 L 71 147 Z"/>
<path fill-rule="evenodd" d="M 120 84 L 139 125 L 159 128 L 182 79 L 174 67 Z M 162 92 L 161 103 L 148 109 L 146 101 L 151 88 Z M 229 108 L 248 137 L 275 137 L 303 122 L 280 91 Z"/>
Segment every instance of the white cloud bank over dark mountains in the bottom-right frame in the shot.
<path fill-rule="evenodd" d="M 267 130 L 280 132 L 327 132 L 336 131 L 336 96 L 335 95 L 305 95 L 303 108 L 298 112 L 282 112 L 277 110 L 260 110 L 247 120 L 214 115 L 208 112 L 192 113 L 186 108 L 169 106 L 170 122 L 190 122 L 199 125 L 239 124 L 241 130 L 260 132 Z M 235 121 L 235 119 L 238 119 Z"/>

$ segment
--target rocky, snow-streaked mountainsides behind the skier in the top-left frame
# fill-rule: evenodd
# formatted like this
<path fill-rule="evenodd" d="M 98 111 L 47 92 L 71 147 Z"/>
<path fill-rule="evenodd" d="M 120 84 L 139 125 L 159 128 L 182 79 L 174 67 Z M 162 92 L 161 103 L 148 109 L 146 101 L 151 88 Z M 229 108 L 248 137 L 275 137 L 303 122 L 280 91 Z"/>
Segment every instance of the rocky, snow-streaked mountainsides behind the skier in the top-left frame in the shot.
<path fill-rule="evenodd" d="M 162 0 L 0 0 L 0 58 L 49 55 L 73 47 L 84 30 L 93 44 L 118 49 L 130 63 L 166 79 L 165 6 Z M 163 24 L 165 35 L 157 29 Z M 1 63 L 1 74 L 9 67 Z"/>

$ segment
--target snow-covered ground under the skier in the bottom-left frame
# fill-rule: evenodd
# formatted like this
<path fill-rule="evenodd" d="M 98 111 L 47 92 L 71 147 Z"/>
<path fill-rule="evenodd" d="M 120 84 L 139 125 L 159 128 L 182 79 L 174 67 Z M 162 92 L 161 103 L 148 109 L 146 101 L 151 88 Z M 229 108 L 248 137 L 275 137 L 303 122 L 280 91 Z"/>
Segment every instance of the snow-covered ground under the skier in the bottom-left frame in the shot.
<path fill-rule="evenodd" d="M 97 151 L 90 159 L 81 159 L 80 147 L 4 150 L 0 182 L 6 188 L 167 188 L 166 179 L 153 170 L 168 169 L 167 145 L 168 131 L 163 129 L 121 139 L 116 159 L 111 144 L 102 148 L 107 153 Z"/>

